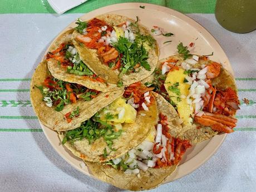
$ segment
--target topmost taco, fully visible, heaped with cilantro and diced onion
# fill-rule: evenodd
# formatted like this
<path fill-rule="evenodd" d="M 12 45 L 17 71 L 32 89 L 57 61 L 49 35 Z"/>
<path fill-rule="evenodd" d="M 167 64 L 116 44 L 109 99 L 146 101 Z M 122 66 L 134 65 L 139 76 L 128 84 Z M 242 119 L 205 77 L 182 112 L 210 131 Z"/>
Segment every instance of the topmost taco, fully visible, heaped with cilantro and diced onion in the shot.
<path fill-rule="evenodd" d="M 104 14 L 77 24 L 72 40 L 78 53 L 107 82 L 128 86 L 155 70 L 157 43 L 138 21 Z"/>

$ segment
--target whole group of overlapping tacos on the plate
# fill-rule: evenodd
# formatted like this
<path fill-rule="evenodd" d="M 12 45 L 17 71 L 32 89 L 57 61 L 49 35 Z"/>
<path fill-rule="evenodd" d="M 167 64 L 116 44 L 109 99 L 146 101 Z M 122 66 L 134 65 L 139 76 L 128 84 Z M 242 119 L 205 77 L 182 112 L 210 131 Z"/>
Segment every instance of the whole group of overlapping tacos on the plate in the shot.
<path fill-rule="evenodd" d="M 155 188 L 186 149 L 233 132 L 239 100 L 220 63 L 182 43 L 179 55 L 158 61 L 151 33 L 124 16 L 76 24 L 36 68 L 31 101 L 96 178 L 122 189 Z"/>

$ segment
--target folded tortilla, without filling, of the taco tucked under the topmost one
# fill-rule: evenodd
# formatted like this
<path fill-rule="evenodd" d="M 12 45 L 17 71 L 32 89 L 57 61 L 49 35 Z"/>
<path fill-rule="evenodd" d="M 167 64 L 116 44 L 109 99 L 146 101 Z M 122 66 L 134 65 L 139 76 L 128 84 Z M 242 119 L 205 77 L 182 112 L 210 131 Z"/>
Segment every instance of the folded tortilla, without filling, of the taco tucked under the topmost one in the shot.
<path fill-rule="evenodd" d="M 58 37 L 53 42 L 53 44 L 49 48 L 49 52 L 56 50 L 61 45 L 61 43 L 68 43 L 70 45 L 73 45 L 73 42 L 71 40 L 73 31 L 74 29 L 70 29 L 62 33 L 60 37 Z M 87 65 L 87 63 L 85 63 L 85 65 Z M 48 68 L 52 73 L 53 77 L 58 78 L 59 80 L 62 80 L 62 81 L 78 83 L 85 87 L 102 91 L 102 92 L 114 91 L 114 90 L 120 89 L 120 87 L 117 87 L 115 84 L 99 82 L 96 80 L 91 80 L 88 76 L 80 76 L 73 73 L 68 73 L 67 69 L 65 67 L 62 67 L 61 65 L 58 65 L 58 61 L 55 60 L 54 58 L 50 58 L 48 60 Z"/>

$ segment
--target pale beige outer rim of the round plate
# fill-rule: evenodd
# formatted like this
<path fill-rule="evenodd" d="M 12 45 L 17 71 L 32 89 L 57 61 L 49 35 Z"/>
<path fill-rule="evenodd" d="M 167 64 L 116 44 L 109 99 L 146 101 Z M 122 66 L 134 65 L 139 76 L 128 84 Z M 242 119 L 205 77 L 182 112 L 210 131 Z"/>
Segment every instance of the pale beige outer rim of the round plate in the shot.
<path fill-rule="evenodd" d="M 179 19 L 183 20 L 184 22 L 188 23 L 190 26 L 193 26 L 196 30 L 201 31 L 201 33 L 203 33 L 204 36 L 207 36 L 208 40 L 210 40 L 212 43 L 214 43 L 214 45 L 211 43 L 211 46 L 214 46 L 214 47 L 218 48 L 218 50 L 221 51 L 222 55 L 220 57 L 225 58 L 225 61 L 227 61 L 225 63 L 224 67 L 228 67 L 228 71 L 230 72 L 230 75 L 232 75 L 234 77 L 234 71 L 231 67 L 229 59 L 228 59 L 227 55 L 225 54 L 223 48 L 220 46 L 220 43 L 216 40 L 216 38 L 213 35 L 211 35 L 211 33 L 206 28 L 204 28 L 203 26 L 201 26 L 201 24 L 196 22 L 193 18 L 190 18 L 189 16 L 186 16 L 184 13 L 176 11 L 175 9 L 171 9 L 171 8 L 164 7 L 164 6 L 159 6 L 156 4 L 150 4 L 150 3 L 138 3 L 138 2 L 116 3 L 116 4 L 111 4 L 109 6 L 94 9 L 88 13 L 82 14 L 82 16 L 80 16 L 79 18 L 85 17 L 86 14 L 90 14 L 90 15 L 95 14 L 95 12 L 101 12 L 101 14 L 106 14 L 109 12 L 120 11 L 120 10 L 125 10 L 125 9 L 141 9 L 139 6 L 145 6 L 145 9 L 154 9 L 156 11 L 171 14 L 172 16 L 179 18 Z M 119 8 L 117 8 L 117 7 L 119 7 Z M 97 15 L 99 15 L 99 14 L 95 14 L 95 16 L 97 16 Z M 93 16 L 93 17 L 95 17 L 95 16 Z M 70 29 L 71 26 L 75 22 L 76 22 L 76 20 L 71 22 L 70 24 L 68 24 L 67 27 L 63 28 L 62 31 L 60 33 L 58 33 L 58 35 L 52 40 L 52 42 L 54 42 L 64 31 L 67 31 L 68 29 Z M 52 43 L 51 43 L 51 45 L 52 45 Z M 46 55 L 50 46 L 48 46 L 44 55 Z M 45 58 L 45 56 L 43 56 L 42 61 L 44 60 L 44 58 Z M 160 59 L 161 58 L 159 58 L 159 60 Z M 60 147 L 60 146 L 56 146 L 55 144 L 53 144 L 52 140 L 49 137 L 50 135 L 48 135 L 48 131 L 54 132 L 55 134 L 57 134 L 57 133 L 55 131 L 49 129 L 48 127 L 44 126 L 43 124 L 41 124 L 41 122 L 40 122 L 40 125 L 42 127 L 43 133 L 45 134 L 47 140 L 50 142 L 53 149 L 55 149 L 55 151 L 57 151 L 58 154 L 63 159 L 65 159 L 65 161 L 67 161 L 68 164 L 73 166 L 73 168 L 80 171 L 81 173 L 97 179 L 94 175 L 90 174 L 90 171 L 88 169 L 87 170 L 82 169 L 79 165 L 77 166 L 70 159 L 67 159 L 67 157 L 65 155 L 63 155 L 62 152 L 58 149 L 58 147 Z M 168 176 L 168 178 L 165 179 L 164 183 L 169 183 L 176 179 L 183 178 L 184 176 L 186 176 L 186 175 L 192 173 L 194 170 L 198 169 L 201 165 L 203 165 L 206 161 L 208 161 L 211 156 L 213 156 L 215 154 L 215 152 L 219 149 L 221 144 L 223 144 L 226 136 L 227 136 L 227 134 L 222 133 L 222 134 L 218 134 L 218 135 L 215 135 L 214 137 L 212 137 L 209 140 L 208 144 L 206 144 L 205 147 L 201 151 L 198 152 L 198 154 L 196 154 L 194 157 L 192 157 L 188 161 L 185 161 L 182 165 L 179 165 L 175 171 L 175 174 Z M 60 140 L 60 139 L 58 138 L 58 140 Z M 211 145 L 214 145 L 214 146 L 211 146 Z M 64 148 L 64 146 L 62 146 L 62 145 L 61 145 L 61 147 Z M 208 152 L 209 148 L 211 148 L 210 153 Z M 206 152 L 208 152 L 208 153 L 206 153 Z M 197 161 L 200 161 L 200 163 L 196 163 Z M 82 160 L 81 160 L 81 162 L 82 162 Z M 190 163 L 194 164 L 193 168 L 188 168 Z M 180 174 L 180 172 L 182 172 L 183 174 Z M 99 180 L 99 179 L 97 179 L 97 180 Z"/>

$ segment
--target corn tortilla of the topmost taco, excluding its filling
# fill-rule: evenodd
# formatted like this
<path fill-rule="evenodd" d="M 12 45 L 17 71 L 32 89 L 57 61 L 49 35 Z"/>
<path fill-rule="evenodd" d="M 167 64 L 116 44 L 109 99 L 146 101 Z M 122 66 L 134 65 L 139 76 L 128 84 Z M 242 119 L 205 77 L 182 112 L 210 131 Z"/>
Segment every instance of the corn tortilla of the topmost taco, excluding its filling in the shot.
<path fill-rule="evenodd" d="M 97 16 L 96 18 L 104 20 L 110 26 L 117 26 L 118 24 L 124 23 L 126 21 L 135 22 L 133 19 L 119 16 L 116 14 L 103 14 L 101 16 Z M 143 35 L 150 35 L 145 27 L 139 24 L 140 32 Z M 86 46 L 81 45 L 79 41 L 76 40 L 76 37 L 81 35 L 77 31 L 73 32 L 72 40 L 77 48 L 78 53 L 80 54 L 82 60 L 86 63 L 86 65 L 98 76 L 107 80 L 107 82 L 116 84 L 119 79 L 118 70 L 111 70 L 108 66 L 100 61 L 100 58 L 97 54 L 97 50 L 88 48 Z M 130 73 L 130 75 L 122 75 L 121 81 L 124 83 L 124 86 L 130 85 L 131 83 L 140 81 L 147 76 L 149 76 L 156 67 L 157 60 L 159 57 L 158 45 L 156 41 L 154 42 L 154 48 L 149 51 L 149 58 L 147 62 L 151 67 L 150 71 L 145 70 L 144 67 L 139 67 L 139 72 Z"/>

